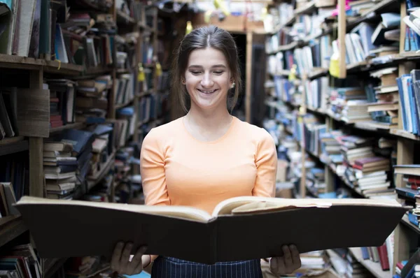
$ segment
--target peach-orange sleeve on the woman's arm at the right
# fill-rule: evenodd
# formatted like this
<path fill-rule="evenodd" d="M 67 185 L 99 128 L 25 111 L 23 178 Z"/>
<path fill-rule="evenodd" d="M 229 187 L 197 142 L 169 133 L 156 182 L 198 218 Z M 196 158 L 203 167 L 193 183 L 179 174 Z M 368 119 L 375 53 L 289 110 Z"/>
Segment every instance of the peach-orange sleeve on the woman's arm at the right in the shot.
<path fill-rule="evenodd" d="M 276 196 L 277 149 L 272 136 L 265 129 L 258 143 L 255 166 L 257 177 L 253 189 L 253 196 Z"/>

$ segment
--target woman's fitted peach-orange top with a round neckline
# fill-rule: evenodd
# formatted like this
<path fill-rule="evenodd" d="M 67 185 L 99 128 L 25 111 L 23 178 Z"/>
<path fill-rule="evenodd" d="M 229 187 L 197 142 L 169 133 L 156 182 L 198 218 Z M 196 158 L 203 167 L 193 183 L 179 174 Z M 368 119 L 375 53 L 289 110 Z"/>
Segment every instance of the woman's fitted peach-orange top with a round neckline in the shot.
<path fill-rule="evenodd" d="M 275 196 L 274 140 L 237 117 L 212 142 L 194 138 L 182 117 L 151 129 L 140 159 L 146 205 L 188 205 L 211 214 L 227 198 Z"/>

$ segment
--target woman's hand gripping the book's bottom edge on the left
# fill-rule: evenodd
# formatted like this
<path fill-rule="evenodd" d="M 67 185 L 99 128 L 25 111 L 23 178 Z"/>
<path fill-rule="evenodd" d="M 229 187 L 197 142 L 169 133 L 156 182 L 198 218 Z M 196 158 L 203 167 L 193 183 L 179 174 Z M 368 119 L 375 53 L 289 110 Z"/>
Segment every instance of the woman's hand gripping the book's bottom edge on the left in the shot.
<path fill-rule="evenodd" d="M 143 270 L 142 256 L 146 251 L 146 247 L 140 247 L 132 260 L 132 243 L 118 242 L 113 251 L 111 258 L 111 270 L 118 272 L 120 275 L 137 275 Z"/>

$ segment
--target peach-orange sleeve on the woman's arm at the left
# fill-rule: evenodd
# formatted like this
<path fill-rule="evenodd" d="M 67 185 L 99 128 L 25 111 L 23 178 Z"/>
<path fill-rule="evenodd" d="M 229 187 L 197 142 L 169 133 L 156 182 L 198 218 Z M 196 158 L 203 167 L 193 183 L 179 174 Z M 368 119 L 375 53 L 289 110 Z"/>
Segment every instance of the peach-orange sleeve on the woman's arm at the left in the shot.
<path fill-rule="evenodd" d="M 146 205 L 169 205 L 161 138 L 151 130 L 141 144 L 140 173 Z"/>

